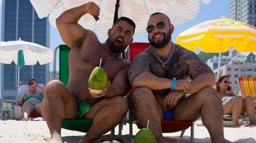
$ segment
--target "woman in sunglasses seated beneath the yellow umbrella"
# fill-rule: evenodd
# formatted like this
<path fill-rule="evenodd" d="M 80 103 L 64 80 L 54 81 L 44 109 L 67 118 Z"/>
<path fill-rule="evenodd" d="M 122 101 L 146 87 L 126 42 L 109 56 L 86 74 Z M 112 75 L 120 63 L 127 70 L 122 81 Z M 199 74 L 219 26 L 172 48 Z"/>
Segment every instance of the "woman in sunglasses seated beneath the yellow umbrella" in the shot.
<path fill-rule="evenodd" d="M 242 126 L 238 123 L 238 119 L 239 115 L 245 114 L 245 111 L 250 118 L 250 126 L 256 126 L 252 98 L 250 96 L 243 98 L 242 96 L 234 94 L 228 76 L 224 75 L 218 79 L 216 90 L 221 97 L 224 115 L 232 114 L 233 116 L 234 128 Z"/>

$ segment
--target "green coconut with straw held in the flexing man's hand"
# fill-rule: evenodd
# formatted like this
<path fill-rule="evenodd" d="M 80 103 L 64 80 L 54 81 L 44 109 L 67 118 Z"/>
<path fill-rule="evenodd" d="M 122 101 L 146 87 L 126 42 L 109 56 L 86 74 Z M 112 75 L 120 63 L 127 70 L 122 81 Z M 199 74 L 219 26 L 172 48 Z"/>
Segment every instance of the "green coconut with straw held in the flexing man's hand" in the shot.
<path fill-rule="evenodd" d="M 101 94 L 100 90 L 105 90 L 108 87 L 109 79 L 108 75 L 103 68 L 96 67 L 93 69 L 88 84 L 92 92 Z"/>

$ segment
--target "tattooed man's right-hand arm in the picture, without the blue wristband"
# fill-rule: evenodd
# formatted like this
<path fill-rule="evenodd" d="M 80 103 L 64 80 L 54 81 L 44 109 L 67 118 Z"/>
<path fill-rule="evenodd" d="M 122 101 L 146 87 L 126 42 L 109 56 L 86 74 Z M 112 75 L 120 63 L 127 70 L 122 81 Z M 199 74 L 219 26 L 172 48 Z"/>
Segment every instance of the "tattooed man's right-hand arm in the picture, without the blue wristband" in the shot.
<path fill-rule="evenodd" d="M 184 49 L 186 50 L 186 49 Z M 207 86 L 214 86 L 215 75 L 214 72 L 206 65 L 194 52 L 186 50 L 182 61 L 187 65 L 187 74 L 192 79 L 192 90 L 189 93 L 197 93 Z"/>

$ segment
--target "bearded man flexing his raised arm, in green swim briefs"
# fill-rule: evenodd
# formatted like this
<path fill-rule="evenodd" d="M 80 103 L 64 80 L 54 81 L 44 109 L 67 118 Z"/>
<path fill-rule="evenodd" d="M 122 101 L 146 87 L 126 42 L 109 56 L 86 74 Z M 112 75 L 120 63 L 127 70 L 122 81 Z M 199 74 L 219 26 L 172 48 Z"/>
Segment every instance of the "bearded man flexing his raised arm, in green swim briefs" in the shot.
<path fill-rule="evenodd" d="M 109 29 L 108 39 L 100 43 L 93 31 L 77 23 L 84 14 L 99 12 L 99 6 L 90 2 L 63 12 L 56 19 L 60 36 L 71 50 L 67 87 L 52 80 L 45 89 L 45 120 L 52 142 L 62 142 L 62 119 L 93 119 L 92 127 L 79 141 L 90 143 L 116 127 L 127 112 L 128 101 L 123 96 L 131 89 L 127 77 L 131 63 L 122 59 L 121 53 L 133 42 L 135 23 L 120 17 Z M 97 95 L 89 90 L 88 80 L 93 69 L 99 67 L 100 59 L 109 85 Z"/>

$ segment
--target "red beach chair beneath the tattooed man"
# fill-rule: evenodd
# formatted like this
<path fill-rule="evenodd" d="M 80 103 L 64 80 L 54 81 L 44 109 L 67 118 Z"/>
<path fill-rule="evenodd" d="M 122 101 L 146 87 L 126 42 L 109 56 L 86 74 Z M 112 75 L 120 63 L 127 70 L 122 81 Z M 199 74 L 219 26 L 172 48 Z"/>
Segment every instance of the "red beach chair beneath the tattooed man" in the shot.
<path fill-rule="evenodd" d="M 127 59 L 132 61 L 134 55 L 143 51 L 144 49 L 146 49 L 149 46 L 151 46 L 150 43 L 136 43 L 136 42 L 132 43 L 129 46 L 129 48 L 127 49 Z M 131 89 L 131 92 L 132 91 L 133 91 L 133 89 Z M 132 122 L 130 122 L 130 121 L 132 121 Z M 131 104 L 130 99 L 129 99 L 129 121 L 127 121 L 127 123 L 129 123 L 129 122 L 130 122 L 130 124 L 129 124 L 130 140 L 132 140 L 133 139 L 133 125 L 131 123 L 137 123 L 138 120 L 132 119 L 132 104 Z M 162 120 L 161 121 L 161 127 L 162 127 L 163 133 L 172 133 L 172 132 L 181 131 L 180 137 L 182 137 L 185 130 L 190 127 L 191 128 L 190 142 L 194 142 L 194 124 L 195 124 L 195 122 L 193 122 L 193 121 L 174 121 L 174 120 Z M 142 126 L 138 127 L 138 128 L 141 129 Z"/>

